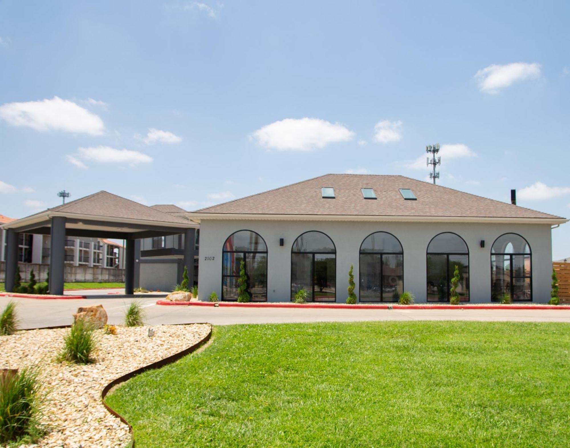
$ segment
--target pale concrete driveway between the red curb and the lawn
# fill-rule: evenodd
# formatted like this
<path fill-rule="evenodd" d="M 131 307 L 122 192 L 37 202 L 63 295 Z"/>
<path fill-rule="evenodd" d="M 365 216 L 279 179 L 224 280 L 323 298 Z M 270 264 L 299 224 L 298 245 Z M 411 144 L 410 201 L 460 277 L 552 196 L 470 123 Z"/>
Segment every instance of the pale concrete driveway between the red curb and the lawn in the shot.
<path fill-rule="evenodd" d="M 83 293 L 82 293 L 83 294 Z M 0 309 L 10 298 L 0 297 Z M 488 320 L 569 322 L 565 309 L 315 309 L 158 306 L 156 297 L 116 298 L 98 294 L 88 299 L 36 300 L 12 298 L 18 303 L 22 328 L 67 325 L 78 307 L 103 304 L 110 324 L 121 324 L 132 300 L 140 300 L 148 324 L 209 322 L 214 325 L 363 320 Z"/>

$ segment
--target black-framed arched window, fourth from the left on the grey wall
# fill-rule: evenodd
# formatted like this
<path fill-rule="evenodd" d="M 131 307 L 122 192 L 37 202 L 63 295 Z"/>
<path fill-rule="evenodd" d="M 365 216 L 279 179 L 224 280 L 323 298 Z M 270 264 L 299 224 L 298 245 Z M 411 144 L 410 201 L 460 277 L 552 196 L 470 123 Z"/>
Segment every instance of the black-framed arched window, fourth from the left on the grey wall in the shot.
<path fill-rule="evenodd" d="M 451 232 L 440 233 L 427 246 L 427 301 L 449 301 L 451 279 L 459 268 L 457 294 L 469 302 L 469 249 L 463 238 Z"/>

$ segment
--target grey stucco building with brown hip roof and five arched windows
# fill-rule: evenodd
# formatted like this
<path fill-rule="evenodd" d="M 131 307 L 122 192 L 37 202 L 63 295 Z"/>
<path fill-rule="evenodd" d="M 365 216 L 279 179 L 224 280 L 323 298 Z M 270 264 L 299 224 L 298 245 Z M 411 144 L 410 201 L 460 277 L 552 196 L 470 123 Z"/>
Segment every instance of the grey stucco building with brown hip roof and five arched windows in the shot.
<path fill-rule="evenodd" d="M 200 223 L 202 295 L 237 300 L 243 261 L 251 299 L 345 302 L 353 266 L 359 302 L 463 302 L 510 294 L 547 302 L 551 228 L 539 211 L 402 176 L 327 174 L 188 213 Z"/>

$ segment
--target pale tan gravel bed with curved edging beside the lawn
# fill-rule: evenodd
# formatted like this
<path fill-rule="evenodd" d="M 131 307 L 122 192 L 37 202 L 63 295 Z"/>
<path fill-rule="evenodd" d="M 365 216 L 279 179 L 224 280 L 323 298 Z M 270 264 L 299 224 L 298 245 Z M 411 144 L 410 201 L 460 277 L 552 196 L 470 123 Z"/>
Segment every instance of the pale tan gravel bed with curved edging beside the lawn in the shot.
<path fill-rule="evenodd" d="M 154 336 L 148 336 L 148 329 Z M 115 378 L 196 344 L 209 324 L 117 327 L 117 334 L 97 330 L 96 363 L 58 363 L 68 328 L 19 331 L 0 336 L 0 369 L 38 364 L 46 405 L 42 423 L 50 432 L 36 445 L 22 447 L 124 447 L 128 426 L 109 414 L 101 391 Z"/>

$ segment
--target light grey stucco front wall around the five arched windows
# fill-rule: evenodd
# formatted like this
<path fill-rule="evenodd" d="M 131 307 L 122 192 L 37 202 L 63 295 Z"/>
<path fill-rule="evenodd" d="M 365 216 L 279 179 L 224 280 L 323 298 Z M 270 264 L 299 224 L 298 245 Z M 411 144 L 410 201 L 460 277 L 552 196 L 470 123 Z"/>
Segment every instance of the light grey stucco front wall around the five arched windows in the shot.
<path fill-rule="evenodd" d="M 551 291 L 551 226 L 544 224 L 394 223 L 320 221 L 217 221 L 203 219 L 200 225 L 200 274 L 198 286 L 206 296 L 215 291 L 221 298 L 222 246 L 237 230 L 253 230 L 267 244 L 268 302 L 288 302 L 291 288 L 291 246 L 302 233 L 319 230 L 336 246 L 336 301 L 345 302 L 348 270 L 354 265 L 359 295 L 359 250 L 364 238 L 377 231 L 396 236 L 404 248 L 404 289 L 416 302 L 426 302 L 426 249 L 438 233 L 454 232 L 469 247 L 470 302 L 491 301 L 491 246 L 504 233 L 526 238 L 532 251 L 532 299 L 548 302 Z M 279 246 L 284 238 L 284 246 Z M 485 247 L 479 242 L 484 239 Z M 210 258 L 214 257 L 213 260 Z M 142 274 L 141 274 L 142 278 Z"/>

